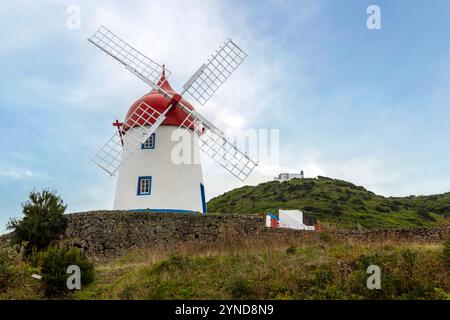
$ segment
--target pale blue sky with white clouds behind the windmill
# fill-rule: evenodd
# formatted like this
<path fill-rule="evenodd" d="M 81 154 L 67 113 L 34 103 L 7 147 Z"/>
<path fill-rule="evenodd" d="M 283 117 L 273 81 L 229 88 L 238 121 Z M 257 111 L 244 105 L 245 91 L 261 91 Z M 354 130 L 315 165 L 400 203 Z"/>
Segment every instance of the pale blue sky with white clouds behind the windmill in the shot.
<path fill-rule="evenodd" d="M 0 232 L 32 190 L 57 190 L 68 212 L 112 208 L 115 179 L 90 159 L 149 88 L 86 41 L 102 24 L 178 90 L 227 37 L 247 52 L 198 107 L 226 132 L 279 130 L 278 161 L 244 184 L 304 170 L 385 196 L 449 192 L 449 14 L 439 0 L 4 2 Z M 203 173 L 208 199 L 244 185 L 208 159 Z"/>

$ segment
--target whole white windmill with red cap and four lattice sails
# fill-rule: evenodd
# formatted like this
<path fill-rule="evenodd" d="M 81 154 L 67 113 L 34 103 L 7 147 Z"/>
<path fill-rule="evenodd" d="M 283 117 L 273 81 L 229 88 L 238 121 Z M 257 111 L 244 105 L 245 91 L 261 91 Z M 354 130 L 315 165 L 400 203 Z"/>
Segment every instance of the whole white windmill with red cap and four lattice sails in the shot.
<path fill-rule="evenodd" d="M 192 141 L 191 159 L 200 149 L 244 181 L 257 165 L 217 127 L 200 115 L 182 95 L 204 105 L 246 58 L 230 39 L 184 84 L 182 94 L 167 81 L 170 72 L 101 26 L 88 39 L 152 90 L 137 100 L 117 132 L 93 161 L 111 176 L 118 174 L 114 209 L 206 213 L 205 189 L 200 163 L 173 161 L 175 130 Z M 185 152 L 185 150 L 183 150 Z"/>

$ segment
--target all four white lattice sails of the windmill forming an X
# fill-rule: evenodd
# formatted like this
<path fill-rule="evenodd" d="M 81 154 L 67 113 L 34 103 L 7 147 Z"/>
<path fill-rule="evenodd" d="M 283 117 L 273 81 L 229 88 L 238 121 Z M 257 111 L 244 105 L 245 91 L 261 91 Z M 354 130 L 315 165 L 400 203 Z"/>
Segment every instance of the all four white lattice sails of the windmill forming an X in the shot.
<path fill-rule="evenodd" d="M 187 115 L 179 127 L 194 128 L 199 133 L 203 152 L 239 180 L 244 181 L 248 177 L 257 163 L 240 151 L 234 143 L 228 141 L 224 133 L 206 118 L 184 106 L 181 96 L 175 97 L 173 93 L 166 92 L 161 87 L 163 83 L 160 81 L 160 76 L 163 66 L 128 45 L 105 26 L 101 26 L 88 41 L 171 101 L 163 112 L 158 112 L 141 101 L 134 112 L 125 119 L 124 125 L 119 128 L 121 131 L 115 133 L 97 152 L 92 159 L 94 163 L 110 175 L 115 175 L 139 145 L 163 123 L 167 112 L 178 105 Z M 183 94 L 188 93 L 204 105 L 246 57 L 247 54 L 228 39 L 185 83 Z M 166 69 L 164 79 L 167 79 L 169 75 L 170 72 Z"/>

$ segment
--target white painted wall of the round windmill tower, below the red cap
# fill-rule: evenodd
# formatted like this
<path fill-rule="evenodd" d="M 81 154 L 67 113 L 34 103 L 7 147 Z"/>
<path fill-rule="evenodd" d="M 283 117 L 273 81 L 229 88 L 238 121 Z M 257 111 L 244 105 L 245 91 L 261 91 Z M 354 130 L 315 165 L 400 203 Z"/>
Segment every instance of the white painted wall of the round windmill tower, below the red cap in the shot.
<path fill-rule="evenodd" d="M 154 149 L 139 149 L 118 174 L 115 210 L 163 209 L 202 212 L 200 184 L 203 184 L 201 164 L 174 164 L 171 141 L 177 127 L 160 126 L 155 133 Z M 135 130 L 135 129 L 130 129 Z M 190 130 L 189 135 L 194 133 Z M 125 134 L 124 143 L 127 143 Z M 193 145 L 193 154 L 200 159 L 200 148 Z M 139 176 L 151 176 L 151 194 L 137 195 Z"/>

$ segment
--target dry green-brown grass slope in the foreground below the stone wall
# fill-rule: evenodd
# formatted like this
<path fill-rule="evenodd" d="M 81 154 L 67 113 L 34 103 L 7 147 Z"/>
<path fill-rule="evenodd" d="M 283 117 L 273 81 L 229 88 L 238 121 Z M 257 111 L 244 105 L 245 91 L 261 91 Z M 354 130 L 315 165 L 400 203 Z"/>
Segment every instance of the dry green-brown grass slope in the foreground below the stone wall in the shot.
<path fill-rule="evenodd" d="M 436 243 L 361 242 L 324 236 L 155 246 L 96 263 L 95 281 L 62 299 L 448 299 L 450 272 Z M 382 289 L 366 287 L 367 267 Z M 0 299 L 43 299 L 26 276 Z M 36 272 L 36 270 L 34 270 Z M 19 272 L 20 273 L 20 272 Z"/>

